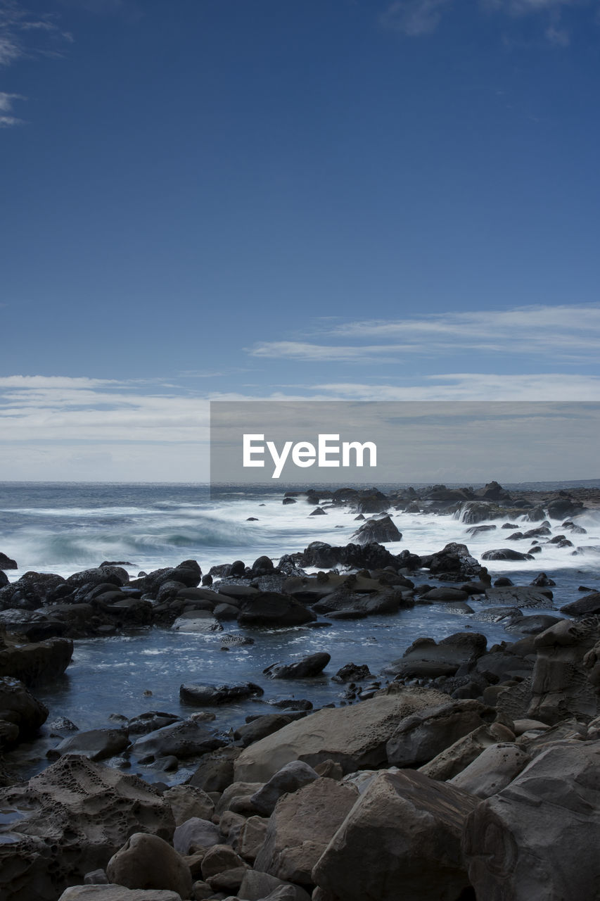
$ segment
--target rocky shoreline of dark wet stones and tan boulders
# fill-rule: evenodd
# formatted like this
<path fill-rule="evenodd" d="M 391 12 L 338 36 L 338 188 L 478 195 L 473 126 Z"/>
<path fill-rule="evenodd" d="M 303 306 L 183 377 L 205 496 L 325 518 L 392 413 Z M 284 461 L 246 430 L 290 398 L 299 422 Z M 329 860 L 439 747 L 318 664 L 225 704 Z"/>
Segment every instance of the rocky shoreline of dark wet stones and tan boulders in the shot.
<path fill-rule="evenodd" d="M 181 698 L 197 708 L 187 718 L 151 711 L 87 732 L 55 721 L 54 762 L 26 782 L 5 773 L 0 896 L 600 897 L 600 593 L 582 591 L 557 615 L 540 614 L 553 607 L 543 573 L 528 585 L 492 584 L 465 544 L 423 557 L 380 543 L 398 540 L 390 537 L 394 511 L 414 505 L 411 512 L 459 510 L 474 528 L 503 520 L 503 543 L 490 551 L 531 560 L 549 542 L 577 553 L 585 531 L 577 515 L 600 499 L 582 491 L 515 494 L 496 483 L 387 496 L 308 491 L 284 503 L 323 514 L 347 505 L 361 523 L 353 542 L 313 542 L 277 565 L 236 560 L 204 575 L 195 560 L 135 579 L 119 561 L 66 579 L 25 573 L 9 582 L 0 572 L 0 751 L 40 729 L 48 710 L 36 686 L 64 672 L 73 640 L 89 635 L 154 624 L 216 633 L 227 646 L 244 641 L 224 631 L 227 621 L 259 634 L 415 604 L 468 609 L 477 599 L 515 638 L 488 647 L 475 631 L 439 642 L 423 636 L 380 673 L 354 662 L 338 670 L 341 705 L 313 710 L 309 699 L 290 697 L 228 735 L 211 724 L 216 705 L 259 696 L 265 679 L 293 687 L 318 676 L 329 654 L 269 667 L 256 682 L 184 684 Z M 523 519 L 517 528 L 517 515 L 533 529 Z M 514 551 L 523 541 L 528 550 Z M 12 564 L 0 555 L 0 567 Z M 123 771 L 130 755 L 163 772 L 195 760 L 195 772 L 172 787 L 146 782 Z"/>

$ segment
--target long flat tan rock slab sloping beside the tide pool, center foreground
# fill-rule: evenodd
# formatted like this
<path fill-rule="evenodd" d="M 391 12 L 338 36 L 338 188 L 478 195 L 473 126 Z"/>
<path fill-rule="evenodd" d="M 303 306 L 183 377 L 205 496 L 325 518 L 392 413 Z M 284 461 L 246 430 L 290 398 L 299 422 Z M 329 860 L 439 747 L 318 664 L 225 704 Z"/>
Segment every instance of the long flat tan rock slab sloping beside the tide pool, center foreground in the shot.
<path fill-rule="evenodd" d="M 385 766 L 386 742 L 399 720 L 447 701 L 447 695 L 432 689 L 406 688 L 359 705 L 316 711 L 244 749 L 235 762 L 235 778 L 267 782 L 290 760 L 312 767 L 333 760 L 344 773 Z"/>

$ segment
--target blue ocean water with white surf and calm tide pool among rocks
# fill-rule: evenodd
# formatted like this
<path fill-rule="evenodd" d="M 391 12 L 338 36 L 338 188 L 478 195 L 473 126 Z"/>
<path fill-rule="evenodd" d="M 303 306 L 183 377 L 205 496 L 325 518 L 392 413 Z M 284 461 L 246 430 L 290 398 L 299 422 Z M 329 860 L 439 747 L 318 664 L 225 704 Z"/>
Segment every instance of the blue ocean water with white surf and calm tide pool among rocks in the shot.
<path fill-rule="evenodd" d="M 589 482 L 585 486 L 597 487 Z M 550 485 L 527 487 L 547 490 Z M 328 509 L 326 516 L 311 517 L 313 507 L 302 496 L 297 503 L 284 505 L 285 491 L 286 486 L 228 486 L 211 493 L 205 485 L 180 483 L 0 483 L 0 551 L 19 566 L 7 571 L 11 580 L 27 570 L 68 576 L 103 560 L 126 561 L 125 569 L 135 577 L 140 571 L 174 566 L 181 560 L 197 560 L 208 572 L 233 560 L 251 565 L 263 554 L 277 560 L 314 541 L 350 542 L 359 523 L 349 508 Z M 471 537 L 466 534 L 468 525 L 453 515 L 397 512 L 394 522 L 403 538 L 386 547 L 395 553 L 405 549 L 432 553 L 456 541 L 466 543 L 479 559 L 483 551 L 502 546 L 506 535 L 497 531 Z M 600 544 L 600 511 L 581 514 L 577 523 L 587 530 L 577 540 Z M 552 523 L 553 534 L 560 532 L 559 525 Z M 578 587 L 598 587 L 600 555 L 573 556 L 571 550 L 544 545 L 534 560 L 490 562 L 488 570 L 493 578 L 507 575 L 516 585 L 527 585 L 539 572 L 546 572 L 557 583 L 554 604 L 559 607 L 579 596 Z M 423 578 L 416 580 L 424 582 L 427 575 L 423 572 Z M 514 634 L 502 625 L 481 618 L 484 605 L 474 600 L 469 605 L 473 614 L 452 613 L 444 605 L 415 605 L 398 614 L 338 621 L 323 628 L 241 630 L 235 622 L 223 623 L 223 633 L 242 632 L 255 640 L 230 651 L 221 650 L 223 633 L 172 633 L 155 627 L 126 636 L 77 640 L 67 673 L 51 685 L 36 688 L 34 694 L 49 706 L 49 722 L 66 716 L 80 729 L 90 729 L 114 725 L 111 714 L 132 717 L 145 710 L 164 710 L 189 715 L 193 708 L 179 702 L 182 682 L 259 683 L 265 695 L 258 700 L 215 711 L 215 726 L 227 732 L 248 715 L 272 712 L 268 702 L 283 697 L 307 697 L 315 706 L 340 704 L 345 687 L 330 678 L 337 669 L 350 661 L 366 663 L 377 677 L 386 663 L 401 657 L 424 635 L 440 640 L 450 633 L 473 630 L 485 633 L 488 644 L 514 641 Z M 272 663 L 292 662 L 316 651 L 332 655 L 321 677 L 283 683 L 263 675 Z M 41 739 L 19 746 L 10 757 L 18 760 L 25 775 L 31 775 L 45 765 L 45 752 L 57 741 L 46 729 Z M 186 769 L 179 769 L 172 778 L 182 781 L 185 776 Z"/>

